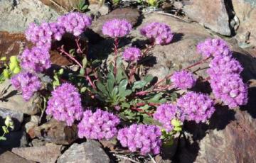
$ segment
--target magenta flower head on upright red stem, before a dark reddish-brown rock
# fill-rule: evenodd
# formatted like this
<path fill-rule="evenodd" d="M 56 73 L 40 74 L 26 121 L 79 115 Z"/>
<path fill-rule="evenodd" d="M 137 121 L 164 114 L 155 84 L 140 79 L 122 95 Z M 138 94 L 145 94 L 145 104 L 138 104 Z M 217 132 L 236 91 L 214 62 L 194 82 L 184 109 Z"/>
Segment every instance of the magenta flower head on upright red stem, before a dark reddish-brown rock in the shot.
<path fill-rule="evenodd" d="M 132 30 L 132 24 L 125 19 L 112 19 L 102 26 L 103 35 L 111 38 L 122 38 Z"/>

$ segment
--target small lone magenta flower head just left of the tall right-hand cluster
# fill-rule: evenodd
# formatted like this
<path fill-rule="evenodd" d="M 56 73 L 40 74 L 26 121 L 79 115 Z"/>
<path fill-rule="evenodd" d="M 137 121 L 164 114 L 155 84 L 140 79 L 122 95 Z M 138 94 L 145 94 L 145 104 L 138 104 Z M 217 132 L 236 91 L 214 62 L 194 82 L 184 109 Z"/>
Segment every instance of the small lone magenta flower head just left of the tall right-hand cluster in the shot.
<path fill-rule="evenodd" d="M 193 74 L 186 70 L 175 72 L 171 76 L 171 81 L 174 86 L 179 89 L 191 89 L 196 84 L 196 79 L 193 77 Z"/>

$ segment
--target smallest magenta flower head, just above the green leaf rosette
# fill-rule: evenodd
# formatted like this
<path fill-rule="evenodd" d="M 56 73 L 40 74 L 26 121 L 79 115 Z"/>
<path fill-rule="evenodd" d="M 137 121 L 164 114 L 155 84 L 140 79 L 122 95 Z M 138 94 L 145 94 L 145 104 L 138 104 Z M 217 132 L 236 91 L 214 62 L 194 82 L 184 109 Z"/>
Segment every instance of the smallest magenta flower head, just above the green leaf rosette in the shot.
<path fill-rule="evenodd" d="M 142 52 L 137 47 L 128 47 L 124 50 L 122 58 L 127 62 L 137 62 L 142 57 Z"/>

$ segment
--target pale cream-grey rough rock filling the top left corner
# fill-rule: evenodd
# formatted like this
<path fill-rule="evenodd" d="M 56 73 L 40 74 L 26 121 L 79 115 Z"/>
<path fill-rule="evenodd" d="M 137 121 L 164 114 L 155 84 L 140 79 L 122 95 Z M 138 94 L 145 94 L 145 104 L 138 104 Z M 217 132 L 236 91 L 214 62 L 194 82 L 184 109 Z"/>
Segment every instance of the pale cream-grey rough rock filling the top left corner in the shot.
<path fill-rule="evenodd" d="M 53 21 L 58 13 L 38 0 L 0 1 L 0 30 L 23 32 L 29 23 Z"/>

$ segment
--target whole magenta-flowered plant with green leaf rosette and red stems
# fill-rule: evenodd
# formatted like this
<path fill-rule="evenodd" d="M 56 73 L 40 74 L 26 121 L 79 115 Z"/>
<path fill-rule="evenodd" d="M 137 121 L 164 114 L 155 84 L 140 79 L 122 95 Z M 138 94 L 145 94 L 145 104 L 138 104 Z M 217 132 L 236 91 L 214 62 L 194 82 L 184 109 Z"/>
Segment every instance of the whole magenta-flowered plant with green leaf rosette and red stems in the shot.
<path fill-rule="evenodd" d="M 203 60 L 156 81 L 151 74 L 139 73 L 140 61 L 154 46 L 171 43 L 174 33 L 168 25 L 147 24 L 140 32 L 151 44 L 144 50 L 122 50 L 119 38 L 128 35 L 132 25 L 126 20 L 107 21 L 102 33 L 114 40 L 114 57 L 105 67 L 102 60 L 87 56 L 86 47 L 80 42 L 80 34 L 91 23 L 85 14 L 68 13 L 55 23 L 31 24 L 26 38 L 36 47 L 24 50 L 19 57 L 22 72 L 11 79 L 26 100 L 39 89 L 47 89 L 41 94 L 47 100 L 46 114 L 69 126 L 78 125 L 80 138 L 117 137 L 120 145 L 131 152 L 159 154 L 161 145 L 170 145 L 174 135 L 182 131 L 183 122 L 206 123 L 219 101 L 230 108 L 247 103 L 247 85 L 240 77 L 242 66 L 233 59 L 224 40 L 214 38 L 199 43 L 197 49 Z M 75 49 L 53 46 L 65 33 L 75 35 Z M 50 48 L 57 48 L 79 69 L 56 69 L 53 82 L 46 87 L 36 73 L 46 73 L 50 67 Z M 190 71 L 207 60 L 211 61 L 206 79 Z M 191 91 L 198 80 L 209 82 L 213 95 Z"/>

